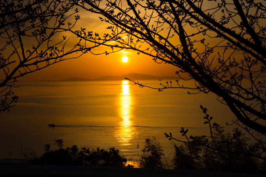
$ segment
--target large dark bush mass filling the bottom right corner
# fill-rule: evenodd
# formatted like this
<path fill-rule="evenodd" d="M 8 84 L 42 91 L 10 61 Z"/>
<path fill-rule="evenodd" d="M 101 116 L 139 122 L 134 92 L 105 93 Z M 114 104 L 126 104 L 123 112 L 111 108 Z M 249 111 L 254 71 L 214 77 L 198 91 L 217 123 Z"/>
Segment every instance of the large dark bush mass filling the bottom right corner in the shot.
<path fill-rule="evenodd" d="M 251 151 L 259 147 L 256 144 L 248 144 L 249 138 L 239 129 L 235 128 L 232 132 L 225 132 L 223 127 L 215 124 L 214 141 L 210 141 L 209 145 L 235 153 L 200 146 L 206 140 L 206 136 L 196 136 L 190 143 L 175 145 L 174 169 L 265 174 L 265 161 L 261 162 L 256 157 L 245 155 L 251 154 Z"/>

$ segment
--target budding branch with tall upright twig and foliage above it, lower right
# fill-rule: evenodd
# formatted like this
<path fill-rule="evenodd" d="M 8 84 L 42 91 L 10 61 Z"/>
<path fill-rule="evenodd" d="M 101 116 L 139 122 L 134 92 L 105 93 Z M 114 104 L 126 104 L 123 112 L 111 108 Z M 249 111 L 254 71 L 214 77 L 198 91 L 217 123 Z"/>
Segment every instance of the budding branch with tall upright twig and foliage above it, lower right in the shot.
<path fill-rule="evenodd" d="M 219 124 L 215 122 L 211 124 L 213 117 L 210 117 L 207 114 L 207 108 L 203 108 L 201 106 L 201 109 L 205 114 L 205 117 L 203 117 L 206 119 L 204 124 L 208 124 L 210 128 L 210 140 L 206 138 L 206 136 L 188 137 L 188 129 L 184 130 L 183 127 L 181 128 L 180 133 L 182 133 L 182 136 L 185 136 L 187 141 L 181 141 L 173 138 L 172 133 L 169 133 L 169 135 L 164 133 L 165 136 L 169 137 L 169 140 L 173 139 L 179 142 L 184 142 L 185 144 L 201 146 L 209 152 L 219 151 L 220 153 L 247 155 L 260 159 L 266 159 L 266 148 L 264 147 L 262 140 L 258 140 L 254 144 L 247 144 L 247 141 L 250 139 L 245 137 L 245 133 L 242 133 L 238 128 L 232 130 L 234 132 L 232 135 L 230 133 L 224 133 L 223 127 Z"/>

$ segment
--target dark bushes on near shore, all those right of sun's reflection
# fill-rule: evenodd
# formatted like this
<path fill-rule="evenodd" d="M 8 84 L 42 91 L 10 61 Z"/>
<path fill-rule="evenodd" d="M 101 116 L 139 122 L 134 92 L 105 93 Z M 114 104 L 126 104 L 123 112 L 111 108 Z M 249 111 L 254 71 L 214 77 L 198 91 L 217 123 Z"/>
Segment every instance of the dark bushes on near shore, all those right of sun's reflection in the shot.
<path fill-rule="evenodd" d="M 266 161 L 247 155 L 259 152 L 259 144 L 248 144 L 245 133 L 235 128 L 232 133 L 225 132 L 219 124 L 214 124 L 213 138 L 216 146 L 227 152 L 211 151 L 200 145 L 206 136 L 196 136 L 190 143 L 177 146 L 174 144 L 174 155 L 169 158 L 163 152 L 156 139 L 145 138 L 145 148 L 140 159 L 143 168 L 173 168 L 178 170 L 216 171 L 248 174 L 266 174 Z"/>

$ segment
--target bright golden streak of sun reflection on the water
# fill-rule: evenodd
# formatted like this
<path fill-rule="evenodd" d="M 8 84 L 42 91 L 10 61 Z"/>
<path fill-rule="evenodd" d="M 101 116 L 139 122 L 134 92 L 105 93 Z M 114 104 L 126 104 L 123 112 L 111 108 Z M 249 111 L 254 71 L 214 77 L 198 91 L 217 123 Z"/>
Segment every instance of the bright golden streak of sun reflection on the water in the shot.
<path fill-rule="evenodd" d="M 134 136 L 133 125 L 133 111 L 132 111 L 132 94 L 130 93 L 130 85 L 128 81 L 122 81 L 122 92 L 119 95 L 119 117 L 122 121 L 119 122 L 119 139 L 118 141 L 123 146 L 123 151 L 127 151 L 129 146 L 132 145 L 131 139 Z"/>

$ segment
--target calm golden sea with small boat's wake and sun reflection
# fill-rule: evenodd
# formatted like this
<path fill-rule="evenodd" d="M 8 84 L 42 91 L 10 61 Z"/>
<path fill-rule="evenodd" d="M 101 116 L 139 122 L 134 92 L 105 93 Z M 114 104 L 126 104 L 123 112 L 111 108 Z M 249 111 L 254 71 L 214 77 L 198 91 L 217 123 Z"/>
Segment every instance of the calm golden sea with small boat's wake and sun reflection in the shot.
<path fill-rule="evenodd" d="M 172 82 L 172 86 L 177 86 Z M 164 80 L 139 83 L 153 88 L 167 84 Z M 193 81 L 179 84 L 195 88 Z M 188 129 L 189 136 L 208 135 L 200 105 L 207 108 L 213 122 L 228 131 L 235 127 L 226 126 L 235 116 L 212 93 L 188 94 L 188 91 L 196 93 L 189 89 L 158 92 L 127 80 L 21 82 L 19 85 L 12 90 L 19 101 L 10 112 L 0 114 L 0 159 L 22 158 L 19 146 L 32 148 L 41 155 L 44 144 L 51 144 L 51 149 L 58 148 L 55 139 L 63 139 L 65 148 L 72 145 L 91 149 L 115 147 L 125 158 L 138 161 L 145 138 L 155 137 L 165 154 L 173 154 L 173 145 L 182 143 L 169 141 L 164 133 L 172 133 L 182 141 L 185 137 L 180 133 L 181 127 Z"/>

